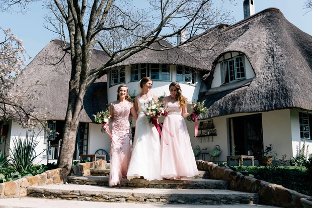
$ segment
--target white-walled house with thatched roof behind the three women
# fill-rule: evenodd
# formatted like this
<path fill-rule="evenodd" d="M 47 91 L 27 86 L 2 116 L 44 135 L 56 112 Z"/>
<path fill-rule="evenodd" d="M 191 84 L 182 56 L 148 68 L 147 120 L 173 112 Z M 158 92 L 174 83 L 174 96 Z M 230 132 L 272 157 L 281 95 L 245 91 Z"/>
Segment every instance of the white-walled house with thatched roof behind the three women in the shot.
<path fill-rule="evenodd" d="M 249 2 L 246 8 L 254 11 L 253 1 L 245 2 Z M 169 43 L 154 43 L 152 47 L 161 48 L 164 44 Z M 179 82 L 188 98 L 189 112 L 193 99 L 205 100 L 209 112 L 199 117 L 196 138 L 194 123 L 186 122 L 192 147 L 202 153 L 198 159 L 210 160 L 205 153 L 216 145 L 221 150 L 219 161 L 226 161 L 226 156 L 231 154 L 257 157 L 270 144 L 278 158 L 286 155 L 290 159 L 304 139 L 311 153 L 311 49 L 312 37 L 289 23 L 276 8 L 249 13 L 231 26 L 218 25 L 192 39 L 183 50 L 144 49 L 111 68 L 87 90 L 74 141 L 74 159 L 99 150 L 109 153 L 110 138 L 101 133 L 101 126 L 94 123 L 92 115 L 106 110 L 116 100 L 120 84 L 126 84 L 130 93 L 137 92 L 139 80 L 144 76 L 152 78 L 151 91 L 158 96 L 164 92 L 169 95 L 169 84 Z M 49 127 L 60 135 L 67 107 L 70 61 L 66 61 L 67 57 L 58 67 L 43 67 L 40 63 L 61 56 L 60 41 L 51 41 L 25 71 L 28 80 L 25 86 L 34 81 L 33 77 L 44 83 L 37 88 L 43 97 L 35 105 L 39 113 L 48 115 Z M 103 52 L 95 50 L 93 66 L 99 66 L 106 58 Z M 41 109 L 48 109 L 48 113 Z M 9 123 L 9 144 L 21 131 L 17 124 Z M 41 133 L 40 142 L 38 152 L 48 147 L 41 156 L 42 163 L 48 159 L 56 161 L 59 136 Z M 4 145 L 0 144 L 0 148 Z"/>

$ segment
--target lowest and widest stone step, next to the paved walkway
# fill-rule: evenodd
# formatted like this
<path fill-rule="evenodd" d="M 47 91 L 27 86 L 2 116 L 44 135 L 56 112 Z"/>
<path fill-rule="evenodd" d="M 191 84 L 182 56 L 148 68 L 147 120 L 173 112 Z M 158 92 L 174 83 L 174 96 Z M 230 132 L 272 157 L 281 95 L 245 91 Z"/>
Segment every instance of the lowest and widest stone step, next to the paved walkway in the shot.
<path fill-rule="evenodd" d="M 216 189 L 110 188 L 92 185 L 29 186 L 27 195 L 49 199 L 172 204 L 257 204 L 257 193 Z"/>

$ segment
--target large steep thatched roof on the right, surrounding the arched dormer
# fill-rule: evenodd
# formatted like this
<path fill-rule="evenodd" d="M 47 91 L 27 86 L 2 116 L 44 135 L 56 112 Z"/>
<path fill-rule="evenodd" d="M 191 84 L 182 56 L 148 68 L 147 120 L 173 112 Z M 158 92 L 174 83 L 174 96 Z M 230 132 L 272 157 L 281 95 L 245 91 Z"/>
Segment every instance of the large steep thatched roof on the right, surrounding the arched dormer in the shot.
<path fill-rule="evenodd" d="M 209 112 L 201 119 L 289 108 L 312 110 L 312 36 L 288 22 L 280 10 L 269 8 L 235 25 L 219 25 L 192 44 L 213 47 L 188 49 L 207 65 L 198 100 L 206 99 Z M 219 57 L 231 51 L 246 55 L 255 77 L 249 83 L 210 89 Z"/>

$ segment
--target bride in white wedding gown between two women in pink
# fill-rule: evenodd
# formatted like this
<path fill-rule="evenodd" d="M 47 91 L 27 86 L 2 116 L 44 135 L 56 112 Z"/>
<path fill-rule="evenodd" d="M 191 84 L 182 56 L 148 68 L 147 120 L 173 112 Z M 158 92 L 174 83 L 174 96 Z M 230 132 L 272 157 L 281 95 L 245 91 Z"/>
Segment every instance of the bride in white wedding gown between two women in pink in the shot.
<path fill-rule="evenodd" d="M 152 98 L 158 100 L 156 94 L 149 90 L 152 80 L 143 77 L 139 85 L 142 89 L 135 97 L 135 110 L 139 115 L 135 124 L 132 155 L 129 163 L 127 178 L 144 177 L 146 180 L 162 180 L 161 177 L 161 145 L 160 136 L 153 124 L 148 122 L 148 117 L 142 112 L 147 107 L 147 102 Z"/>

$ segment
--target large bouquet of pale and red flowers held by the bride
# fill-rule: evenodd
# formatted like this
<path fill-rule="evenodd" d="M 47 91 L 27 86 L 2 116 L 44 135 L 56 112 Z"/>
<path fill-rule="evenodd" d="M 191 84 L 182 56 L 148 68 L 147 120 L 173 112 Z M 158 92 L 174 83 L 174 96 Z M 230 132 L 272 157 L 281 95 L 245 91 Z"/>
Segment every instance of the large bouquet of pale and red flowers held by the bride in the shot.
<path fill-rule="evenodd" d="M 147 102 L 146 109 L 143 110 L 145 116 L 150 116 L 148 122 L 153 124 L 153 120 L 157 120 L 161 116 L 168 116 L 170 111 L 167 111 L 168 105 L 162 101 L 151 99 Z"/>

